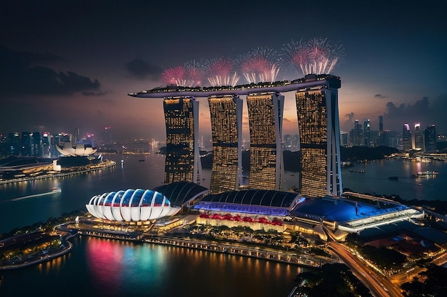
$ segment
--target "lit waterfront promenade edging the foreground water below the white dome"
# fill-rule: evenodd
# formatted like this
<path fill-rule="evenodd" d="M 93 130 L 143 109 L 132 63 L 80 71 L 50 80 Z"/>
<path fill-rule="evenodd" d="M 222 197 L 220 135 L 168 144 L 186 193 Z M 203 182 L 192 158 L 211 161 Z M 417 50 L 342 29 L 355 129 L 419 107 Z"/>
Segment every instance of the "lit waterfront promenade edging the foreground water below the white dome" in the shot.
<path fill-rule="evenodd" d="M 0 241 L 1 249 L 7 249 L 9 246 L 21 246 L 24 244 L 25 238 L 29 241 L 32 233 L 37 234 L 37 231 L 31 234 L 20 234 L 12 236 L 8 239 Z M 40 233 L 40 232 L 39 232 Z M 59 234 L 61 238 L 61 245 L 54 249 L 46 249 L 33 254 L 29 254 L 23 258 L 14 258 L 7 261 L 0 261 L 0 270 L 2 269 L 19 269 L 34 264 L 39 264 L 44 261 L 49 261 L 58 256 L 62 256 L 71 251 L 72 245 L 69 239 L 77 235 L 96 236 L 106 239 L 116 239 L 134 242 L 146 242 L 151 244 L 164 244 L 170 246 L 179 246 L 186 249 L 201 249 L 205 251 L 213 251 L 216 253 L 233 254 L 238 256 L 247 256 L 257 259 L 265 259 L 268 261 L 277 261 L 286 264 L 293 264 L 298 266 L 307 266 L 312 268 L 320 267 L 323 264 L 339 262 L 338 256 L 331 255 L 331 258 L 324 256 L 311 256 L 308 254 L 300 254 L 297 251 L 286 251 L 281 249 L 273 249 L 268 246 L 258 246 L 252 244 L 227 244 L 217 241 L 206 241 L 191 238 L 182 238 L 178 236 L 158 235 L 151 233 L 129 232 L 129 231 L 111 231 L 106 229 L 81 228 L 75 222 L 70 222 L 57 226 L 53 235 Z M 50 240 L 51 234 L 46 234 Z M 35 237 L 37 238 L 37 237 Z M 41 237 L 39 236 L 39 239 Z M 31 239 L 32 240 L 32 239 Z"/>

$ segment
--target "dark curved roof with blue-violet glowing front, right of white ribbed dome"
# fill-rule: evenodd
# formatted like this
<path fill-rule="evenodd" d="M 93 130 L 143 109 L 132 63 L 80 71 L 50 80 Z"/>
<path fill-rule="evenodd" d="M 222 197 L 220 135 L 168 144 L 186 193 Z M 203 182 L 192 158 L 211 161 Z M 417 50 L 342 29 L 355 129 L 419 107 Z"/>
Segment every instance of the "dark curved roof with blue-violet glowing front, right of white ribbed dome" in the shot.
<path fill-rule="evenodd" d="M 246 189 L 209 194 L 197 202 L 194 209 L 285 217 L 298 202 L 298 198 L 298 194 L 291 192 Z"/>

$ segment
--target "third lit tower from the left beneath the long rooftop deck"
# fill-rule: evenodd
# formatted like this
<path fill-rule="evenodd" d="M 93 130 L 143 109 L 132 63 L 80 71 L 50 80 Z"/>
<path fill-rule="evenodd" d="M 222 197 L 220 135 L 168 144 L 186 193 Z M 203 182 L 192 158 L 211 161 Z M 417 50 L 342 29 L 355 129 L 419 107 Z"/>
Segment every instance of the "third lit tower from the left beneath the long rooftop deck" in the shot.
<path fill-rule="evenodd" d="M 250 178 L 253 189 L 281 189 L 284 175 L 282 120 L 284 96 L 277 93 L 247 95 L 250 126 Z"/>

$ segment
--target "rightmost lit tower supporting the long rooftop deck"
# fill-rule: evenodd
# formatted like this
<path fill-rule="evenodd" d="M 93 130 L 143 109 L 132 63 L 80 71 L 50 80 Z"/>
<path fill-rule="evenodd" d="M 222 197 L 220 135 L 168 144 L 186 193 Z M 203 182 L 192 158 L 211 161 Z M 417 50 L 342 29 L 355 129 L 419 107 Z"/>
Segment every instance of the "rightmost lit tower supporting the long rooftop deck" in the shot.
<path fill-rule="evenodd" d="M 338 196 L 343 192 L 338 118 L 340 86 L 340 80 L 326 80 L 319 87 L 296 92 L 301 142 L 301 195 Z"/>

